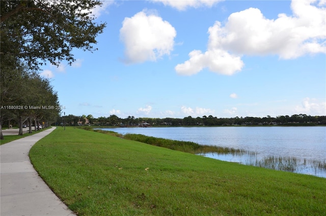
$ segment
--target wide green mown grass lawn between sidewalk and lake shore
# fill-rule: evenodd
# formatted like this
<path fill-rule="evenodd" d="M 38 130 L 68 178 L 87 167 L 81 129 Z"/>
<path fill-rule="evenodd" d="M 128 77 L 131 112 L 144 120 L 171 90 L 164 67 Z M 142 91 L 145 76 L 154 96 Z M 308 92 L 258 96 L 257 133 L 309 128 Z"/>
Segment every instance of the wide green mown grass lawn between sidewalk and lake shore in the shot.
<path fill-rule="evenodd" d="M 58 127 L 30 157 L 78 215 L 323 215 L 326 179 Z"/>

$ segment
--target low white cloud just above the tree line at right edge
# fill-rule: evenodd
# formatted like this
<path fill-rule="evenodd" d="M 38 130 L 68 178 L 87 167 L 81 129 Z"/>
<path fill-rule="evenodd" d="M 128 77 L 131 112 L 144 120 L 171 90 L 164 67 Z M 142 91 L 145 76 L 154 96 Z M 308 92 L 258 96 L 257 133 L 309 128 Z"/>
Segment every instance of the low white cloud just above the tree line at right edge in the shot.
<path fill-rule="evenodd" d="M 296 106 L 295 111 L 300 114 L 307 115 L 326 115 L 326 102 L 320 102 L 317 99 L 306 97 L 302 101 L 302 105 Z"/>

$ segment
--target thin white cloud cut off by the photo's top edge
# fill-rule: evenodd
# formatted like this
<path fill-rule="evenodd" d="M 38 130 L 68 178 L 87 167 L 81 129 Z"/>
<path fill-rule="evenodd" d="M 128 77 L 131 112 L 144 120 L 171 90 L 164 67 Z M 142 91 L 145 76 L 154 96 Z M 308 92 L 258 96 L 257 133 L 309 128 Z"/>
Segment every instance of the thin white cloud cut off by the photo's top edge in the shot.
<path fill-rule="evenodd" d="M 223 0 L 186 0 L 186 1 L 175 1 L 175 0 L 152 0 L 153 2 L 161 2 L 165 6 L 170 6 L 176 8 L 177 10 L 183 11 L 187 8 L 199 8 L 208 7 L 211 8 L 214 4 L 221 2 Z"/>

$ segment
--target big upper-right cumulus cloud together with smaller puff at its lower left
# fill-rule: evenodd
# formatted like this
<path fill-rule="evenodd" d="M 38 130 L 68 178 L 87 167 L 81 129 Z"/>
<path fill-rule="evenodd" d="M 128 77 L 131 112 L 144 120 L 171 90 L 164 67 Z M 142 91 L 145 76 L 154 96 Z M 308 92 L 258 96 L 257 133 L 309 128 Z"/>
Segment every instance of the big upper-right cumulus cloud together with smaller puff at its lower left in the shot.
<path fill-rule="evenodd" d="M 207 51 L 193 50 L 189 60 L 178 64 L 181 75 L 192 75 L 204 68 L 232 75 L 244 64 L 242 55 L 277 55 L 295 59 L 307 54 L 326 53 L 326 12 L 315 1 L 292 1 L 292 16 L 279 14 L 267 19 L 257 8 L 232 13 L 224 26 L 216 21 L 208 29 Z"/>

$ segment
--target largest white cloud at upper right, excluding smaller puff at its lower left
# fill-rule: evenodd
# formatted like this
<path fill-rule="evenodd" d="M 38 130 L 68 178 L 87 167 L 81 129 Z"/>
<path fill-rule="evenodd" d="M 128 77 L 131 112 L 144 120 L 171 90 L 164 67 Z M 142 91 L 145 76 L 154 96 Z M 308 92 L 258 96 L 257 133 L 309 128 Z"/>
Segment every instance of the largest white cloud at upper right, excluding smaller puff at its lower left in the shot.
<path fill-rule="evenodd" d="M 240 55 L 278 55 L 294 59 L 307 53 L 325 52 L 325 8 L 311 1 L 292 1 L 293 16 L 279 14 L 266 19 L 257 8 L 233 13 L 221 27 L 210 28 L 210 46 L 218 46 Z"/>

